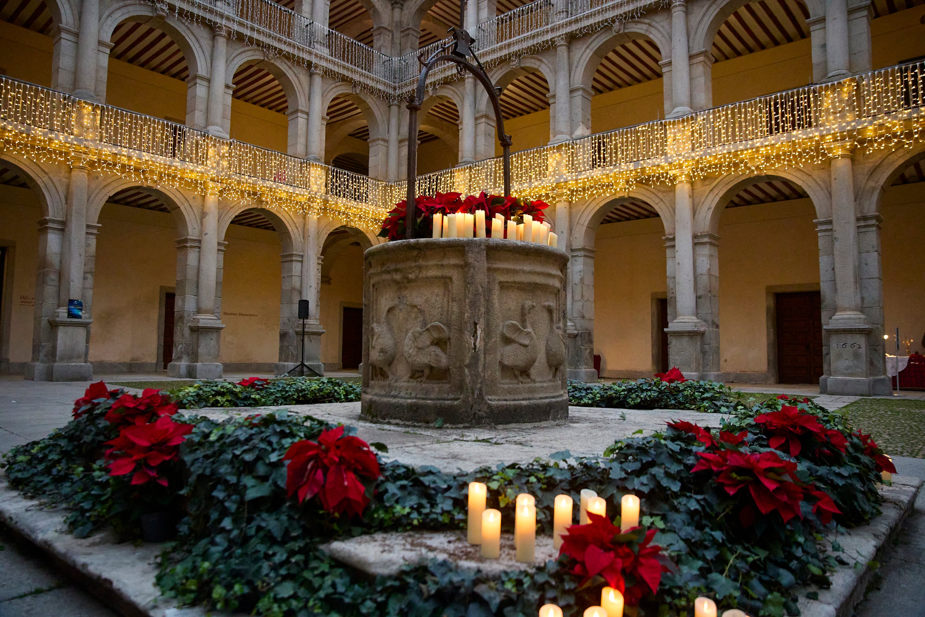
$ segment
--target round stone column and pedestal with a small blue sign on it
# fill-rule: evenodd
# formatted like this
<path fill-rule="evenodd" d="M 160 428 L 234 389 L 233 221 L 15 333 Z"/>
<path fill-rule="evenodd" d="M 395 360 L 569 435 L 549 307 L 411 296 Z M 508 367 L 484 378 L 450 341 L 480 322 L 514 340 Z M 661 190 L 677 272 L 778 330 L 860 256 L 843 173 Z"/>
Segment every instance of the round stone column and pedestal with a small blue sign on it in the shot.
<path fill-rule="evenodd" d="M 93 319 L 82 315 L 68 317 L 71 300 L 83 302 L 83 271 L 87 249 L 87 182 L 90 170 L 74 165 L 68 183 L 68 218 L 61 239 L 61 275 L 58 285 L 56 315 L 49 319 L 51 342 L 54 346 L 52 363 L 48 365 L 49 381 L 89 381 L 93 366 L 88 362 L 87 341 Z"/>

